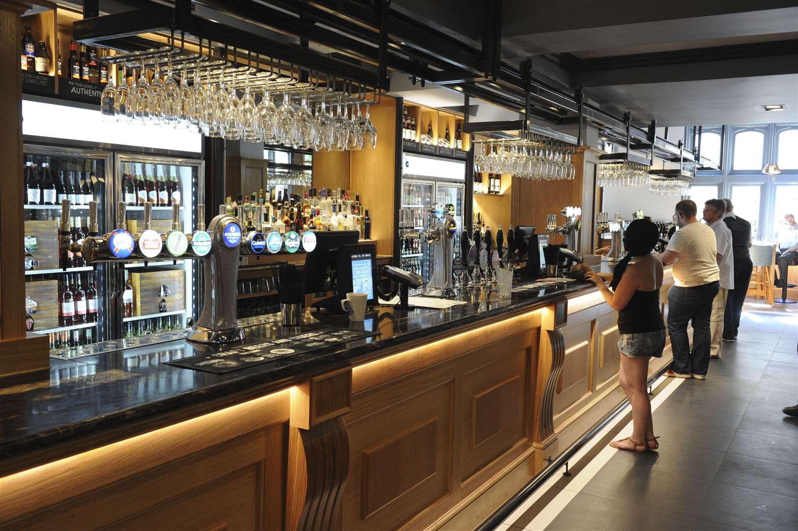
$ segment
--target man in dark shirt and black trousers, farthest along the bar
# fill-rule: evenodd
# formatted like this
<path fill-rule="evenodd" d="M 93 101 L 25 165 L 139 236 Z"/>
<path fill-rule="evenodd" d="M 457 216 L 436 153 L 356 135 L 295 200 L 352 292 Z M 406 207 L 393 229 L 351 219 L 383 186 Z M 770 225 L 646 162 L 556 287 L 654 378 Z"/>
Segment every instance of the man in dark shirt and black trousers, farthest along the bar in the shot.
<path fill-rule="evenodd" d="M 737 339 L 737 328 L 740 327 L 740 316 L 745 302 L 745 293 L 748 291 L 751 280 L 751 224 L 737 216 L 732 200 L 724 199 L 726 213 L 723 222 L 732 232 L 732 252 L 734 255 L 734 289 L 729 291 L 726 298 L 726 310 L 723 318 L 723 340 L 734 341 Z"/>

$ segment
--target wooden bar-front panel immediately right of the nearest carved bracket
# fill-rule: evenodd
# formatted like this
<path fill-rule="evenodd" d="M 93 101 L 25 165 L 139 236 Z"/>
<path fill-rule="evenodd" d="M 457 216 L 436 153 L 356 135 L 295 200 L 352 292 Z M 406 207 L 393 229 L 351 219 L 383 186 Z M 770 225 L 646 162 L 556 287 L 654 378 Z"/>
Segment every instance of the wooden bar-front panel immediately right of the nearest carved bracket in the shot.
<path fill-rule="evenodd" d="M 451 495 L 454 387 L 433 369 L 354 395 L 344 529 L 394 529 Z"/>

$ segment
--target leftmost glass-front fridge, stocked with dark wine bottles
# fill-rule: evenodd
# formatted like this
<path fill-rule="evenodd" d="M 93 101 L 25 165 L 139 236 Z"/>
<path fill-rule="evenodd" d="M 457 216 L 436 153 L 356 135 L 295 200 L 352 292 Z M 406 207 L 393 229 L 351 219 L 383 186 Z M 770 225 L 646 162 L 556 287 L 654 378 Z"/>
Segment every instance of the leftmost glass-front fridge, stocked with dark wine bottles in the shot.
<path fill-rule="evenodd" d="M 97 232 L 109 228 L 112 154 L 107 151 L 23 146 L 27 330 L 49 336 L 50 349 L 109 339 L 105 264 L 61 253 L 61 200 L 69 199 L 70 240 L 89 236 L 89 201 L 97 201 Z"/>

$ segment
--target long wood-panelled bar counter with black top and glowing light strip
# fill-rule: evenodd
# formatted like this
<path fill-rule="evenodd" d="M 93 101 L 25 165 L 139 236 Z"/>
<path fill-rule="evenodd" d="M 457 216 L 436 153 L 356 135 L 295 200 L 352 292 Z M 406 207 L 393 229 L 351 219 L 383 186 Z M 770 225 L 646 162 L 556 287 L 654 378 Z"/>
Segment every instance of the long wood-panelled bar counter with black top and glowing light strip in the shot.
<path fill-rule="evenodd" d="M 575 281 L 306 313 L 379 333 L 226 374 L 164 362 L 235 345 L 53 359 L 0 389 L 0 529 L 473 527 L 617 386 L 614 315 Z"/>

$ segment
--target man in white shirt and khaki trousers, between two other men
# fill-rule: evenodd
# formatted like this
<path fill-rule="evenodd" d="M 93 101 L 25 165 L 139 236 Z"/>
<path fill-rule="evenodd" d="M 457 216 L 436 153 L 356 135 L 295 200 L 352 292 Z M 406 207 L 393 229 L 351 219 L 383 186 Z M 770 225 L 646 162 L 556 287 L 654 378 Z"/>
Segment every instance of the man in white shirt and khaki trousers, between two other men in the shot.
<path fill-rule="evenodd" d="M 726 204 L 722 199 L 710 199 L 704 204 L 704 220 L 709 228 L 715 232 L 717 242 L 717 267 L 721 269 L 721 288 L 717 291 L 712 301 L 712 316 L 709 318 L 709 328 L 712 340 L 709 343 L 709 357 L 721 357 L 721 343 L 723 341 L 723 320 L 726 309 L 726 297 L 729 290 L 734 289 L 734 253 L 732 251 L 732 231 L 723 222 Z"/>

